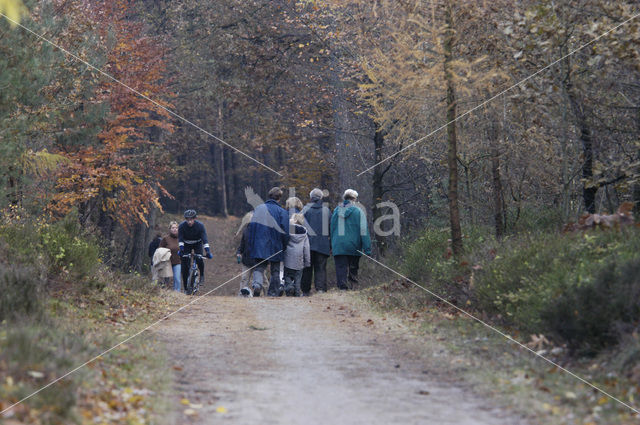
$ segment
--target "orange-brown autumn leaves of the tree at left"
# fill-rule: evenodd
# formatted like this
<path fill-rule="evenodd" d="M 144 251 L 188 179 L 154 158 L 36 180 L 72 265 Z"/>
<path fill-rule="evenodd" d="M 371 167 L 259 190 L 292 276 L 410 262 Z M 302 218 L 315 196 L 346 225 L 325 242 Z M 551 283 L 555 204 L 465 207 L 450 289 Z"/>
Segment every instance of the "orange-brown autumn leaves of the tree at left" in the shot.
<path fill-rule="evenodd" d="M 101 40 L 114 38 L 104 71 L 122 84 L 104 77 L 96 86 L 94 101 L 108 104 L 110 114 L 96 143 L 60 152 L 70 161 L 58 175 L 49 208 L 66 214 L 78 207 L 85 216 L 99 209 L 126 228 L 132 220 L 146 223 L 150 207 L 159 208 L 159 196 L 168 195 L 159 183 L 167 171 L 161 133 L 173 131 L 162 108 L 169 104 L 161 100 L 168 94 L 164 51 L 129 18 L 131 2 L 105 2 L 89 11 Z"/>

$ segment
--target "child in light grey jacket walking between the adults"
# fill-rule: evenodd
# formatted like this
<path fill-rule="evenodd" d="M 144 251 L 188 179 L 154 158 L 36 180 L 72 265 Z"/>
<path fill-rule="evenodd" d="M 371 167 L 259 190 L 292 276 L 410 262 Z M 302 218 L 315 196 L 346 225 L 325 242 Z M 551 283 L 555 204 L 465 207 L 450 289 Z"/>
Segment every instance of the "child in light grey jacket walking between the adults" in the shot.
<path fill-rule="evenodd" d="M 309 238 L 307 229 L 302 226 L 303 223 L 302 214 L 294 214 L 291 217 L 289 243 L 284 251 L 284 292 L 288 297 L 302 296 L 302 270 L 311 264 Z"/>

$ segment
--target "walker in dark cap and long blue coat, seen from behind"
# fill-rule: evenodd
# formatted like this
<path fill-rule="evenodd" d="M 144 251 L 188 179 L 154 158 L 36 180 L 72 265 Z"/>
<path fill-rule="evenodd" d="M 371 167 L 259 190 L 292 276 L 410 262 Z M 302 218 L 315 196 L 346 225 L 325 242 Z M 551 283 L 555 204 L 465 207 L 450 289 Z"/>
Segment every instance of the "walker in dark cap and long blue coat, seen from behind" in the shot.
<path fill-rule="evenodd" d="M 269 199 L 258 205 L 248 226 L 247 248 L 249 255 L 258 265 L 253 269 L 253 296 L 259 297 L 264 289 L 263 276 L 267 265 L 271 270 L 269 296 L 281 296 L 284 285 L 280 278 L 280 262 L 284 258 L 284 250 L 289 242 L 289 213 L 278 201 L 282 197 L 282 189 L 274 187 L 269 191 Z"/>

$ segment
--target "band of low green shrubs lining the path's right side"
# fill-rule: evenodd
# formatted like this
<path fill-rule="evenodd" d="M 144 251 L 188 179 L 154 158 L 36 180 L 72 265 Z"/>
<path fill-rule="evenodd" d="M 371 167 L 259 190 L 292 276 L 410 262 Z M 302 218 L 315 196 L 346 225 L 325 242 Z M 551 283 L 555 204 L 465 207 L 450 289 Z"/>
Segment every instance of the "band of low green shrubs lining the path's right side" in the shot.
<path fill-rule="evenodd" d="M 640 229 L 562 234 L 556 218 L 529 217 L 503 241 L 490 229 L 465 229 L 459 261 L 448 254 L 449 233 L 427 229 L 406 246 L 402 271 L 496 324 L 595 354 L 640 321 Z M 541 222 L 548 226 L 528 227 Z"/>

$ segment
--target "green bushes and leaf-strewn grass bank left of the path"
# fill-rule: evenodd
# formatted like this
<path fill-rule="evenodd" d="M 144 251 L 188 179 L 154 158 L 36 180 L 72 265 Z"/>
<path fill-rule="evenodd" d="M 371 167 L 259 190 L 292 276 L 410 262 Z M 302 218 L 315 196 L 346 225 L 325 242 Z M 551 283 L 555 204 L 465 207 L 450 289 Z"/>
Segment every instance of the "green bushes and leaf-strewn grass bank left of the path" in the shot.
<path fill-rule="evenodd" d="M 137 329 L 139 321 L 155 320 L 154 312 L 159 314 L 164 303 L 147 276 L 122 275 L 102 265 L 100 246 L 76 216 L 47 222 L 18 209 L 1 213 L 4 409 L 119 342 L 130 323 Z M 149 357 L 143 340 L 138 341 L 141 346 L 116 350 L 97 360 L 99 367 L 83 368 L 17 405 L 13 418 L 31 424 L 94 423 L 102 417 L 100 406 L 117 405 L 127 423 L 148 423 L 150 406 L 158 401 L 145 396 L 128 403 L 124 392 L 141 382 L 167 384 L 155 370 L 162 359 Z"/>

